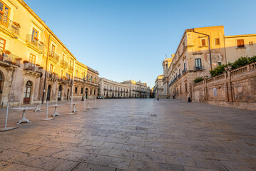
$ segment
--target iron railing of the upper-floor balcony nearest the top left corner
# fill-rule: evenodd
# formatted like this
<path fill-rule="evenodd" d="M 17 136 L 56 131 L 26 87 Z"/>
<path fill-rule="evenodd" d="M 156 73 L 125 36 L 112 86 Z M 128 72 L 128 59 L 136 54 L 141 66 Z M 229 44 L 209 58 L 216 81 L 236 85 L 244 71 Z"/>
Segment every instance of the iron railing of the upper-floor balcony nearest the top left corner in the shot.
<path fill-rule="evenodd" d="M 3 14 L 0 14 L 0 24 L 1 26 L 6 27 L 12 33 L 19 35 L 19 30 L 21 26 L 19 26 L 19 24 L 17 24 L 16 22 L 11 21 L 9 18 L 4 16 Z"/>

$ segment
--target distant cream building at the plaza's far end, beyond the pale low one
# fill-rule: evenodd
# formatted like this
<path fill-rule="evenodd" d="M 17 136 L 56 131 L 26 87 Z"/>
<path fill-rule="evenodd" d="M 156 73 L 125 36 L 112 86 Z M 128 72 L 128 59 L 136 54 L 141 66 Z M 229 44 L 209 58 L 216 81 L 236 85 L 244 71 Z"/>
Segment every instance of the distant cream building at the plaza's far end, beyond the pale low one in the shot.
<path fill-rule="evenodd" d="M 140 81 L 123 81 L 130 88 L 130 98 L 150 98 L 150 88 Z"/>

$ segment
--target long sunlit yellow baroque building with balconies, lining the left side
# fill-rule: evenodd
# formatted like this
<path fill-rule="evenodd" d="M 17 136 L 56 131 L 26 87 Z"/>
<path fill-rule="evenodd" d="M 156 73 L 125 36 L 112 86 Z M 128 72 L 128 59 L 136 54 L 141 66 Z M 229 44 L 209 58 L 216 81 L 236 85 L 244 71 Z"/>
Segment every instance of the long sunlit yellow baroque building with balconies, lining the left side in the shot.
<path fill-rule="evenodd" d="M 83 73 L 92 79 L 81 84 Z M 98 93 L 97 80 L 98 71 L 76 61 L 23 0 L 0 0 L 1 106 L 69 100 L 86 88 L 86 97 L 94 98 Z"/>

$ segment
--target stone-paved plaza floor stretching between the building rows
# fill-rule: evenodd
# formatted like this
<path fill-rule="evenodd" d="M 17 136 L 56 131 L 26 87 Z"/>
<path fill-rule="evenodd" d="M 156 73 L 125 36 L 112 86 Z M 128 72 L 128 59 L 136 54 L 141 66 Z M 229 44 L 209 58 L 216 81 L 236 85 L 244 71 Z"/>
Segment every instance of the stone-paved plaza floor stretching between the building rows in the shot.
<path fill-rule="evenodd" d="M 97 100 L 54 120 L 29 110 L 0 132 L 0 170 L 256 170 L 256 113 L 180 100 Z M 31 105 L 32 106 L 32 105 Z M 93 103 L 91 103 L 93 107 Z M 77 109 L 83 104 L 77 105 Z M 53 107 L 49 108 L 49 114 Z M 0 109 L 4 128 L 6 109 Z"/>

